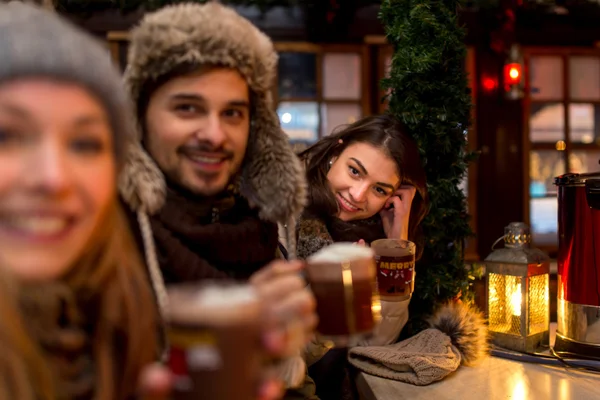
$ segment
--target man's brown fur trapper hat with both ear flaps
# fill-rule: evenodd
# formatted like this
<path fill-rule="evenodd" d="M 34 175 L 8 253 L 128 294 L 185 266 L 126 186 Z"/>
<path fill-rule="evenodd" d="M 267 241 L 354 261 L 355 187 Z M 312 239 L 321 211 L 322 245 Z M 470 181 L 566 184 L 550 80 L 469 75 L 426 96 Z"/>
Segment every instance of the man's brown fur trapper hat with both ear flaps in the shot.
<path fill-rule="evenodd" d="M 306 183 L 271 98 L 277 67 L 271 40 L 233 9 L 214 2 L 178 4 L 147 14 L 130 39 L 125 82 L 136 105 L 148 82 L 181 65 L 217 65 L 240 72 L 252 94 L 240 193 L 259 209 L 261 218 L 283 224 L 293 221 L 304 207 Z M 165 185 L 162 173 L 138 142 L 121 182 L 125 200 L 135 210 L 153 213 L 164 202 Z"/>

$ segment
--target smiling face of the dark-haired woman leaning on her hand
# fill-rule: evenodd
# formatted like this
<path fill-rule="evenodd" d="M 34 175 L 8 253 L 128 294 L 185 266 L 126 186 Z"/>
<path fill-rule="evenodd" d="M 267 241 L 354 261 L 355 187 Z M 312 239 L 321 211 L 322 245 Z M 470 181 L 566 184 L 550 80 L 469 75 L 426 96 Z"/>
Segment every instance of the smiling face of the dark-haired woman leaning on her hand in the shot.
<path fill-rule="evenodd" d="M 327 180 L 343 221 L 372 217 L 400 187 L 396 163 L 368 143 L 351 144 L 332 161 Z"/>

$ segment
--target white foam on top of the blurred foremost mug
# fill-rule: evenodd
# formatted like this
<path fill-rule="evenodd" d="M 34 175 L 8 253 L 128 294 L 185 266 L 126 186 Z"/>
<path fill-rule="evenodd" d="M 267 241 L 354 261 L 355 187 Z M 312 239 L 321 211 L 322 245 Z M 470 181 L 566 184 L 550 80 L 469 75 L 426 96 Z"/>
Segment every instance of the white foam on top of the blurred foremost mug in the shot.
<path fill-rule="evenodd" d="M 250 285 L 181 285 L 168 292 L 168 317 L 173 322 L 222 325 L 260 314 L 258 295 Z"/>

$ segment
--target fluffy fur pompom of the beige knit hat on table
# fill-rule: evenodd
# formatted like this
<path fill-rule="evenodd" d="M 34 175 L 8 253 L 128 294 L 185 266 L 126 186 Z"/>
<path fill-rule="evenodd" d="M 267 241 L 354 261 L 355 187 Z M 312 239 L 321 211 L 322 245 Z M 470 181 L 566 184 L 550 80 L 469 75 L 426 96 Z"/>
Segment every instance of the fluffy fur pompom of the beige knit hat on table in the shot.
<path fill-rule="evenodd" d="M 462 302 L 444 304 L 429 323 L 450 337 L 464 365 L 476 364 L 488 355 L 488 328 L 475 306 Z"/>

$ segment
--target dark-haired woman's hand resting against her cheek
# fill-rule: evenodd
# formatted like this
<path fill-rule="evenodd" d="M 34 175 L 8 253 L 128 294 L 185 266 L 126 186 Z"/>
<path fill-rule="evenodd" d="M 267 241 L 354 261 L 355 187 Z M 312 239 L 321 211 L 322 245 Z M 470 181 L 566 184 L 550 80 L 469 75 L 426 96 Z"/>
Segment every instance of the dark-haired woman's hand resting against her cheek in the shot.
<path fill-rule="evenodd" d="M 417 189 L 414 186 L 402 185 L 386 201 L 379 215 L 388 239 L 408 239 L 410 207 L 416 193 Z"/>

